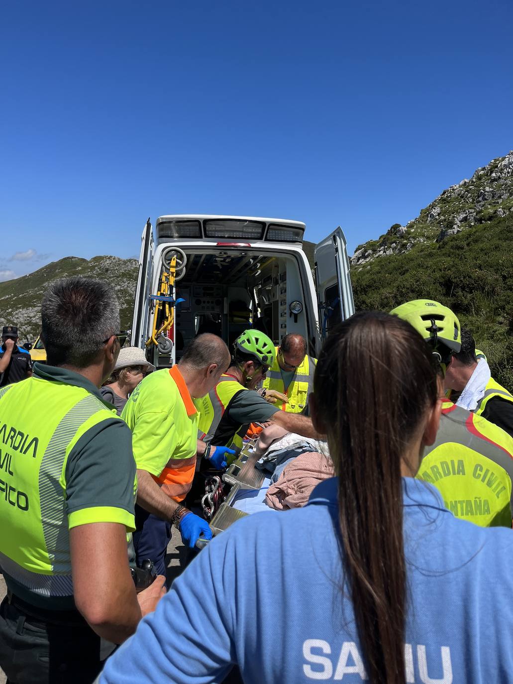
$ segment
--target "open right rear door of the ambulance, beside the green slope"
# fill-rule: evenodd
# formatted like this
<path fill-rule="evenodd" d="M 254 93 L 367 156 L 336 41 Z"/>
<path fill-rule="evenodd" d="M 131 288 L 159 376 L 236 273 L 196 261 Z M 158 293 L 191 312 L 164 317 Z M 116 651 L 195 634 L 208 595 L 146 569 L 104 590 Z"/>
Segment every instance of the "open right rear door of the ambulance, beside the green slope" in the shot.
<path fill-rule="evenodd" d="M 315 286 L 322 339 L 341 321 L 354 314 L 350 265 L 345 235 L 339 226 L 315 246 Z"/>

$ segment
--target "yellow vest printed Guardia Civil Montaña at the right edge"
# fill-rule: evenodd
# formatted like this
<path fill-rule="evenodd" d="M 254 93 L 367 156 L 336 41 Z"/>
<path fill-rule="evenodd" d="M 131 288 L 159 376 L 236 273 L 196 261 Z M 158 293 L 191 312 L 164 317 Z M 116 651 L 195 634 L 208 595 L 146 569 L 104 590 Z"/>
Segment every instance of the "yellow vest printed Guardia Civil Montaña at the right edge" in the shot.
<path fill-rule="evenodd" d="M 512 526 L 513 438 L 475 413 L 445 400 L 417 477 L 438 488 L 456 517 Z"/>

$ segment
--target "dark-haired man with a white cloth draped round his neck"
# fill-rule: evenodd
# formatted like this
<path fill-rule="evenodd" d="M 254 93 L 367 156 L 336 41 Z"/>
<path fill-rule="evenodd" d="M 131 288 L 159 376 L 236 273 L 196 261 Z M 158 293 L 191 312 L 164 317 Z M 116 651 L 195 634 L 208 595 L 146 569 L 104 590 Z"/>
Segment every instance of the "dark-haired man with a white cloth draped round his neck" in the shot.
<path fill-rule="evenodd" d="M 445 373 L 447 396 L 513 437 L 513 395 L 491 377 L 486 356 L 475 349 L 474 338 L 465 328 L 461 343 L 460 352 L 453 354 Z"/>

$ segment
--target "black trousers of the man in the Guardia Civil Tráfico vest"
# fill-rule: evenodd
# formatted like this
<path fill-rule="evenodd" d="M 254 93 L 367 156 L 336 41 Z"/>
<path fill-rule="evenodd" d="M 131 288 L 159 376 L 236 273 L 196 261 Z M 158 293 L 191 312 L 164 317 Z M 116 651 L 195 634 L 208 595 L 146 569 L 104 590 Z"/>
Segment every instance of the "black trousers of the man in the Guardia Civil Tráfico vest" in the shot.
<path fill-rule="evenodd" d="M 8 683 L 92 684 L 104 664 L 101 639 L 78 611 L 47 620 L 23 606 L 7 596 L 0 605 L 0 667 Z"/>

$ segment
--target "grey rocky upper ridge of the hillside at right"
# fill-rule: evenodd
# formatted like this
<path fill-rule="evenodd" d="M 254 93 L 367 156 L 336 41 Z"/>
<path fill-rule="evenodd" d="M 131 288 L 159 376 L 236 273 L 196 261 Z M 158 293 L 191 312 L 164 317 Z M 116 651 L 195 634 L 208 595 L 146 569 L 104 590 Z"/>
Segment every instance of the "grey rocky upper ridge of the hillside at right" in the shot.
<path fill-rule="evenodd" d="M 509 213 L 513 213 L 513 150 L 477 169 L 471 179 L 445 189 L 406 226 L 394 224 L 378 240 L 358 246 L 350 261 L 359 267 L 403 254 L 422 242 L 440 242 Z"/>

